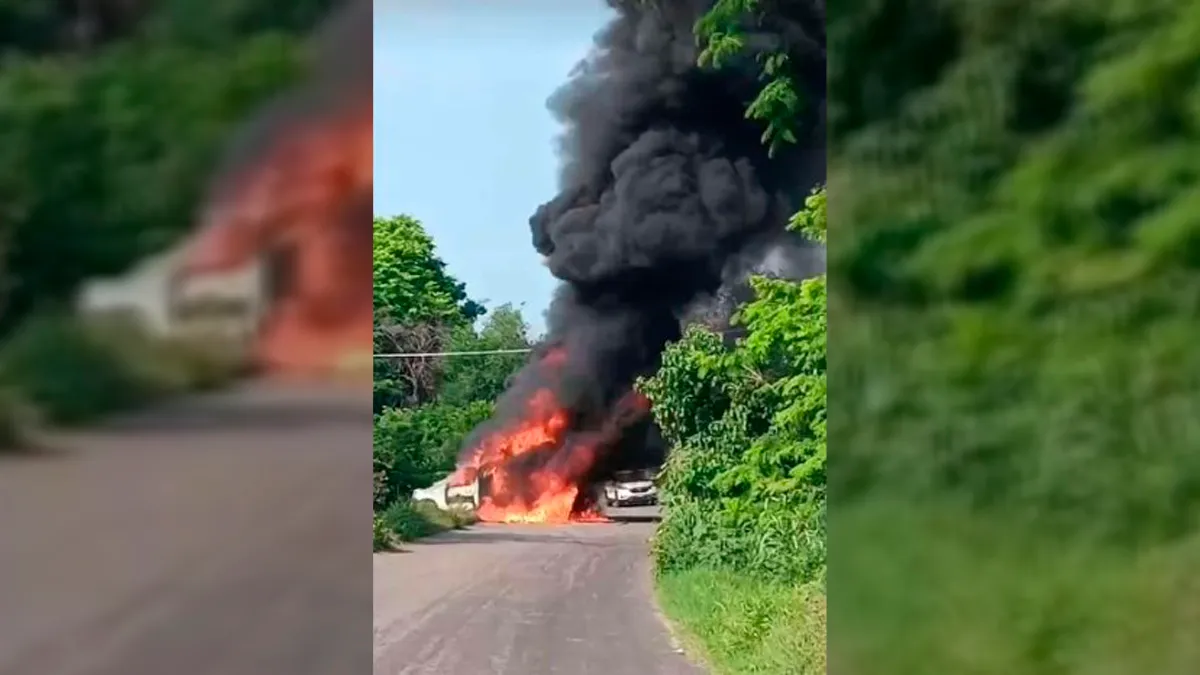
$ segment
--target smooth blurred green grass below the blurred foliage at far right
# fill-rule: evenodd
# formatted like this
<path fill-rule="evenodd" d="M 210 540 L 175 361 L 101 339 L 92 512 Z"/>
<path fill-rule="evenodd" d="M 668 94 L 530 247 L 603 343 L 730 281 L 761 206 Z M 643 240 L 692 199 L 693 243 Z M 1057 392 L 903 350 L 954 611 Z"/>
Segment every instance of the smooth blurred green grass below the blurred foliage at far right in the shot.
<path fill-rule="evenodd" d="M 1190 675 L 1200 663 L 1198 534 L 1105 548 L 883 502 L 841 507 L 830 533 L 840 673 Z"/>

